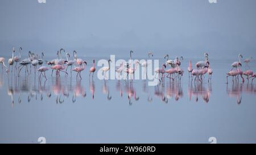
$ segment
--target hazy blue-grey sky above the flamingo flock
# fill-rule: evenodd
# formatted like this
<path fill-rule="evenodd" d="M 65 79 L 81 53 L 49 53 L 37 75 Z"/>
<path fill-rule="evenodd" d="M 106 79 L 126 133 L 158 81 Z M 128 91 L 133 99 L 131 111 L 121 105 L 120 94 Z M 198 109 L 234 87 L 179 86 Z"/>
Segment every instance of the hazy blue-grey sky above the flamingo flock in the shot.
<path fill-rule="evenodd" d="M 1 0 L 0 52 L 256 57 L 255 0 Z M 25 55 L 25 54 L 24 54 Z"/>

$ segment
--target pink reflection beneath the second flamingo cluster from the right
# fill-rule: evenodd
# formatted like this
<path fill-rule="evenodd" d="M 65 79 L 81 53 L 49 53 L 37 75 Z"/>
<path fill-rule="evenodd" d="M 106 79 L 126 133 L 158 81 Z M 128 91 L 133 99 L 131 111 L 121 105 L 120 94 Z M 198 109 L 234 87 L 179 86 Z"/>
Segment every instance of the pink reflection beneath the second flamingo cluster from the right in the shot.
<path fill-rule="evenodd" d="M 192 97 L 195 97 L 195 101 L 199 100 L 199 96 L 202 97 L 205 103 L 209 102 L 210 94 L 212 93 L 212 83 L 193 83 L 189 82 L 188 85 L 188 98 L 191 100 Z"/>

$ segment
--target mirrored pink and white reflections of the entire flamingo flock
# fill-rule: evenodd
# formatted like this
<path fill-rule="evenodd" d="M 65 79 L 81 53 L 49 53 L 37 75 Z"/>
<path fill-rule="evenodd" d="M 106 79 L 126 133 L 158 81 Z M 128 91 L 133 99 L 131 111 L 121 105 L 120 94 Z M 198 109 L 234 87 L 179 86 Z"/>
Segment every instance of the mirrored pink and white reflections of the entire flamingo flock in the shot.
<path fill-rule="evenodd" d="M 9 79 L 9 80 L 8 80 Z M 96 79 L 97 80 L 97 79 Z M 4 86 L 5 77 L 0 76 L 0 89 Z M 72 77 L 59 77 L 51 79 L 38 80 L 34 76 L 24 77 L 10 77 L 7 78 L 6 85 L 7 95 L 10 98 L 11 106 L 15 103 L 30 103 L 33 100 L 43 101 L 45 99 L 53 98 L 56 104 L 64 103 L 64 100 L 70 98 L 73 103 L 78 97 L 86 97 L 86 88 L 84 82 L 81 80 L 72 81 Z M 148 86 L 148 81 L 97 81 L 101 83 L 102 94 L 105 94 L 106 100 L 112 100 L 113 97 L 128 99 L 130 105 L 144 98 L 148 103 L 160 100 L 163 103 L 170 102 L 171 99 L 178 101 L 184 96 L 183 83 L 181 81 L 162 81 L 156 86 Z M 114 85 L 114 87 L 112 87 Z M 115 91 L 112 92 L 111 90 Z M 224 89 L 225 90 L 225 89 Z M 96 83 L 94 79 L 89 79 L 89 91 L 92 94 L 92 99 L 95 98 Z M 253 83 L 229 83 L 226 85 L 226 92 L 228 97 L 236 97 L 237 103 L 240 104 L 242 100 L 242 93 L 256 95 L 256 87 Z M 142 93 L 142 94 L 140 94 Z M 70 95 L 72 94 L 72 95 Z M 138 95 L 140 94 L 140 95 Z M 188 82 L 187 94 L 189 100 L 198 102 L 200 98 L 208 103 L 210 95 L 212 94 L 212 83 L 204 82 Z M 5 95 L 5 94 L 4 94 Z M 123 96 L 127 98 L 123 98 Z M 102 95 L 98 95 L 102 97 Z M 25 99 L 26 98 L 26 99 Z"/>

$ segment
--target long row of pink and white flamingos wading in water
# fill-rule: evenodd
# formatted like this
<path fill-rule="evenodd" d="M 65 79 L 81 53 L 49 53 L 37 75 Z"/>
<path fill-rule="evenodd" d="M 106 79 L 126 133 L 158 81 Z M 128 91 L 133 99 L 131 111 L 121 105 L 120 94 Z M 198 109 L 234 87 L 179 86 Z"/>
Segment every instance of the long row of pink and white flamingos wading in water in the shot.
<path fill-rule="evenodd" d="M 13 72 L 13 66 L 14 66 L 14 72 L 18 74 L 18 76 L 20 76 L 20 72 L 21 70 L 24 68 L 25 69 L 25 73 L 26 74 L 30 74 L 31 73 L 31 66 L 34 66 L 34 72 L 36 74 L 36 71 L 39 72 L 39 79 L 43 76 L 44 78 L 47 79 L 46 77 L 46 72 L 49 69 L 52 69 L 52 74 L 53 74 L 53 70 L 55 70 L 56 72 L 56 77 L 60 77 L 60 72 L 65 73 L 68 76 L 67 70 L 70 67 L 70 72 L 76 72 L 77 79 L 82 79 L 81 77 L 81 72 L 83 70 L 85 70 L 85 65 L 87 65 L 87 62 L 82 60 L 82 58 L 77 57 L 77 52 L 73 51 L 73 58 L 71 58 L 71 55 L 69 53 L 65 53 L 65 49 L 61 48 L 59 51 L 57 51 L 57 57 L 51 61 L 47 61 L 44 60 L 44 53 L 42 52 L 41 56 L 32 53 L 31 51 L 28 52 L 28 57 L 24 58 L 22 60 L 22 47 L 19 48 L 19 55 L 14 56 L 15 54 L 15 48 L 13 48 L 12 50 L 12 56 L 11 58 L 9 58 L 8 60 L 8 64 L 9 66 L 7 67 L 5 65 L 5 58 L 4 57 L 0 57 L 0 63 L 2 64 L 2 69 L 5 67 L 6 68 L 6 73 L 9 74 L 10 72 L 10 68 L 11 68 L 11 72 Z M 64 52 L 66 58 L 64 59 L 61 55 L 61 53 Z M 131 53 L 133 53 L 133 51 L 130 51 L 130 60 L 131 60 Z M 150 56 L 153 56 L 153 54 L 151 52 L 148 52 L 148 58 L 150 58 Z M 256 77 L 256 73 L 253 73 L 253 70 L 250 70 L 249 68 L 249 62 L 251 61 L 252 57 L 250 58 L 246 58 L 245 60 L 243 60 L 243 62 L 245 62 L 246 64 L 246 71 L 243 72 L 241 70 L 241 66 L 242 66 L 242 62 L 241 62 L 241 58 L 242 55 L 238 55 L 238 61 L 233 62 L 232 69 L 226 73 L 226 83 L 228 83 L 228 77 L 232 76 L 233 77 L 233 82 L 235 81 L 239 81 L 239 78 L 242 78 L 242 82 L 245 81 L 245 79 L 243 78 L 243 75 L 247 77 L 247 80 L 249 81 L 250 78 L 251 82 L 253 82 L 253 79 Z M 181 76 L 183 76 L 184 70 L 180 67 L 181 65 L 181 61 L 183 60 L 183 57 L 181 56 L 176 57 L 174 60 L 170 60 L 168 55 L 164 56 L 164 59 L 166 60 L 164 64 L 162 64 L 162 68 L 156 68 L 154 70 L 155 74 L 155 78 L 156 75 L 158 75 L 158 79 L 161 75 L 161 79 L 163 80 L 165 77 L 165 74 L 167 74 L 167 78 L 172 79 L 172 81 L 174 81 L 175 78 L 179 79 L 181 78 Z M 101 71 L 106 74 L 106 72 L 109 71 L 110 69 L 110 62 L 112 62 L 111 60 L 108 61 L 109 66 L 106 66 L 104 68 L 101 68 Z M 48 65 L 45 66 L 44 64 Z M 136 66 L 140 64 L 139 61 L 134 61 L 134 65 L 135 68 L 133 68 L 133 65 L 129 64 L 129 62 L 127 62 L 125 65 L 121 64 L 119 67 L 117 67 L 115 69 L 115 72 L 117 73 L 121 73 L 121 72 L 125 72 L 127 73 L 127 76 L 129 74 L 134 74 L 135 70 L 136 70 Z M 147 61 L 144 61 L 143 63 L 141 63 L 141 66 L 146 68 L 148 65 Z M 170 69 L 166 69 L 166 67 L 170 66 Z M 30 72 L 28 71 L 28 66 L 30 66 Z M 72 69 L 72 67 L 75 66 L 75 68 Z M 236 68 L 236 69 L 234 69 Z M 210 62 L 209 62 L 209 54 L 208 53 L 204 53 L 204 60 L 199 61 L 196 63 L 195 65 L 195 69 L 192 68 L 192 64 L 191 61 L 189 61 L 189 65 L 188 65 L 188 73 L 189 73 L 189 77 L 192 77 L 192 81 L 193 78 L 194 82 L 203 82 L 203 77 L 205 74 L 208 74 L 208 82 L 212 79 L 212 74 L 213 74 L 213 70 L 212 68 L 210 68 Z M 92 73 L 92 78 L 93 78 L 93 74 L 94 72 L 96 72 L 96 67 L 95 67 L 95 60 L 93 60 L 93 66 L 90 68 L 89 73 Z M 90 77 L 89 74 L 89 77 Z M 159 81 L 161 81 L 159 79 Z"/>

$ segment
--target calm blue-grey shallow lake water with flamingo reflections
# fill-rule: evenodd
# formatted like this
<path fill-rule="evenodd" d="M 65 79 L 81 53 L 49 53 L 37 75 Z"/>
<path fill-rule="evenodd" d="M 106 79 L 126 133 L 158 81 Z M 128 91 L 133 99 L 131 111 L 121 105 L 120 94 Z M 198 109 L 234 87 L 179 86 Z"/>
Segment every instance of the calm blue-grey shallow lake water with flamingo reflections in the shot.
<path fill-rule="evenodd" d="M 89 79 L 92 58 L 84 60 L 81 81 L 76 73 L 56 78 L 48 70 L 39 81 L 33 68 L 20 77 L 0 68 L 0 143 L 256 143 L 256 80 L 230 77 L 227 85 L 232 60 L 210 60 L 212 81 L 207 75 L 195 84 L 185 58 L 181 81 L 165 78 L 157 86 Z M 256 72 L 255 61 L 250 68 Z"/>

